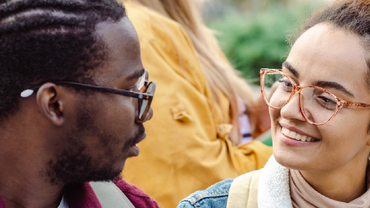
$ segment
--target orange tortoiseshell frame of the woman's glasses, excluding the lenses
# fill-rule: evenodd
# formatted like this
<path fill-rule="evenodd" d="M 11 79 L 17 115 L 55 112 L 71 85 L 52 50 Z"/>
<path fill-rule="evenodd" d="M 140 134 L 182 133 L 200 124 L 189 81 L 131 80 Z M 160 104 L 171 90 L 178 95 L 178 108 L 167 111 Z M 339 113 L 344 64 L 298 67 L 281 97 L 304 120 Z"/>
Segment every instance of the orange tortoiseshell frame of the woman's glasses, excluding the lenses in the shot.
<path fill-rule="evenodd" d="M 285 76 L 285 78 L 289 79 L 290 82 L 293 83 L 293 89 L 292 89 L 292 92 L 290 93 L 290 96 L 288 98 L 288 100 L 282 105 L 280 106 L 279 108 L 276 108 L 272 105 L 270 105 L 266 95 L 265 95 L 265 75 L 266 73 L 278 73 L 278 74 L 281 74 L 283 76 Z M 326 124 L 327 122 L 329 122 L 330 120 L 333 119 L 333 117 L 339 112 L 340 109 L 342 109 L 343 107 L 347 108 L 347 107 L 361 107 L 361 108 L 368 108 L 370 107 L 370 104 L 367 104 L 367 103 L 359 103 L 359 102 L 350 102 L 350 101 L 347 101 L 347 100 L 344 100 L 336 95 L 334 95 L 333 93 L 327 91 L 326 89 L 324 88 L 320 88 L 318 86 L 299 86 L 296 84 L 296 82 L 288 75 L 286 75 L 284 72 L 282 72 L 282 69 L 268 69 L 268 68 L 261 68 L 260 69 L 260 87 L 261 87 L 261 93 L 262 93 L 262 97 L 263 99 L 265 100 L 266 104 L 270 107 L 270 108 L 274 108 L 274 109 L 281 109 L 283 108 L 285 105 L 287 105 L 287 103 L 289 103 L 290 100 L 292 100 L 293 96 L 295 95 L 296 92 L 298 92 L 299 94 L 299 109 L 300 109 L 300 112 L 302 114 L 302 116 L 306 119 L 307 122 L 309 122 L 310 124 L 312 125 L 316 125 L 316 126 L 319 126 L 319 125 L 324 125 Z M 326 122 L 323 122 L 323 123 L 314 123 L 312 121 L 310 121 L 306 115 L 305 115 L 305 112 L 304 112 L 304 109 L 302 108 L 302 90 L 305 89 L 305 88 L 317 88 L 321 91 L 324 91 L 326 93 L 328 93 L 329 95 L 333 96 L 336 100 L 336 109 L 334 110 L 334 113 L 333 115 L 328 119 L 326 120 Z"/>

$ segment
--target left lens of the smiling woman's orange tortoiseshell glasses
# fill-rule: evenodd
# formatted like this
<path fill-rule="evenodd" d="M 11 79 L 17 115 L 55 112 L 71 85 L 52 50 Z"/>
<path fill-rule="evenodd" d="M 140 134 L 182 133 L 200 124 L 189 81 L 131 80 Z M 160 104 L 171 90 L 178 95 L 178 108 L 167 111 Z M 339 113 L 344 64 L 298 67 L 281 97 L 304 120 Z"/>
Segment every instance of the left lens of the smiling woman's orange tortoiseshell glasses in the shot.
<path fill-rule="evenodd" d="M 273 108 L 281 108 L 290 98 L 293 83 L 286 76 L 275 71 L 265 71 L 262 86 L 266 103 Z M 276 90 L 271 94 L 271 88 Z"/>

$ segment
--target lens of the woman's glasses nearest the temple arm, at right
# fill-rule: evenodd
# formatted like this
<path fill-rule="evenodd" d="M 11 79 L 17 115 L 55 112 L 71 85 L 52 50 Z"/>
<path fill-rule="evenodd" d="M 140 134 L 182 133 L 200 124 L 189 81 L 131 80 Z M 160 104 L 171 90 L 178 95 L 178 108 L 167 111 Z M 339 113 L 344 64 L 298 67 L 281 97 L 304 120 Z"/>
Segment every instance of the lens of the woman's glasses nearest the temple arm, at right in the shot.
<path fill-rule="evenodd" d="M 334 115 L 337 100 L 322 89 L 307 87 L 302 90 L 301 106 L 310 122 L 322 124 Z"/>

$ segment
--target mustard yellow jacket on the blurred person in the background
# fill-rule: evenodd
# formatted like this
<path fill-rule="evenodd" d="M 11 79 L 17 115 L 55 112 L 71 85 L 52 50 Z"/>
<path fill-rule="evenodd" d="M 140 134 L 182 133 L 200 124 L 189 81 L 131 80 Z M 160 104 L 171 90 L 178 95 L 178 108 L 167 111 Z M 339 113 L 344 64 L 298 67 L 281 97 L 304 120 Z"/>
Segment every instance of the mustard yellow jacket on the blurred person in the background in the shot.
<path fill-rule="evenodd" d="M 263 167 L 271 147 L 259 141 L 235 146 L 228 139 L 229 101 L 220 93 L 221 107 L 215 105 L 181 25 L 136 3 L 125 6 L 157 88 L 154 117 L 144 124 L 147 138 L 138 144 L 140 155 L 127 161 L 124 179 L 160 207 L 174 208 L 196 190 Z"/>

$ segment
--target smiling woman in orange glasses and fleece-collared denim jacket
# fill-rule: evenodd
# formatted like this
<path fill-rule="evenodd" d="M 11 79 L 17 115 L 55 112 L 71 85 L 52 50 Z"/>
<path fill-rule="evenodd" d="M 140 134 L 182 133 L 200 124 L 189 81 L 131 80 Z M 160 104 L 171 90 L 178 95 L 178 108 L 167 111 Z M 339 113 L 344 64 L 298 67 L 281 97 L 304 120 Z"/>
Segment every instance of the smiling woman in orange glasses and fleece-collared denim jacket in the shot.
<path fill-rule="evenodd" d="M 260 70 L 272 120 L 266 166 L 178 208 L 370 207 L 369 63 L 370 1 L 338 0 L 315 13 L 282 69 Z"/>

